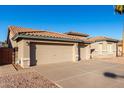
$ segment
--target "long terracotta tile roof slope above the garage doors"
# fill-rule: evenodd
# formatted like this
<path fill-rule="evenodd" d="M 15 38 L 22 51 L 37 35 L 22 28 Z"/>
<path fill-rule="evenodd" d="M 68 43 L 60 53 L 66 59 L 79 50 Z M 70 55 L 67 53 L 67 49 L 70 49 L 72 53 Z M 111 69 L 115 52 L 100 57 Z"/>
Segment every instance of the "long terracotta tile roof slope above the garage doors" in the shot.
<path fill-rule="evenodd" d="M 43 30 L 33 30 L 30 28 L 22 28 L 22 27 L 16 27 L 16 26 L 10 26 L 9 30 L 12 31 L 13 36 L 16 34 L 19 34 L 19 35 L 30 35 L 30 36 L 39 36 L 39 37 L 43 36 L 43 37 L 49 37 L 49 38 L 64 38 L 64 39 L 86 41 L 86 38 L 84 37 L 72 36 L 72 35 L 55 33 L 55 32 L 48 32 Z"/>

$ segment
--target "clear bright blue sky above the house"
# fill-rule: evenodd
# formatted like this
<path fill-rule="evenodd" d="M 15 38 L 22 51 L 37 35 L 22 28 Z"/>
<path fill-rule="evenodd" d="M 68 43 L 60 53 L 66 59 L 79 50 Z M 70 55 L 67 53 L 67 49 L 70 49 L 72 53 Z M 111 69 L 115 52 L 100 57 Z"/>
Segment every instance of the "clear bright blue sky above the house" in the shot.
<path fill-rule="evenodd" d="M 0 6 L 0 41 L 10 25 L 64 33 L 76 31 L 91 36 L 120 39 L 124 16 L 113 6 Z"/>

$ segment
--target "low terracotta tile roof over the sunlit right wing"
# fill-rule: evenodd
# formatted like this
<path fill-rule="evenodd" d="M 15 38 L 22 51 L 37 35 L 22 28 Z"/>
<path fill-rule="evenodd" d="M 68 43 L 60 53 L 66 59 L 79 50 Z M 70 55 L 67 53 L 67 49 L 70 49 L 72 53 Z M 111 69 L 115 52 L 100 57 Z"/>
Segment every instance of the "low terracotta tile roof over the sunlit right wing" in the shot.
<path fill-rule="evenodd" d="M 109 37 L 104 37 L 104 36 L 97 36 L 97 37 L 92 37 L 87 39 L 88 42 L 97 42 L 97 41 L 118 41 L 116 39 L 113 38 L 109 38 Z"/>

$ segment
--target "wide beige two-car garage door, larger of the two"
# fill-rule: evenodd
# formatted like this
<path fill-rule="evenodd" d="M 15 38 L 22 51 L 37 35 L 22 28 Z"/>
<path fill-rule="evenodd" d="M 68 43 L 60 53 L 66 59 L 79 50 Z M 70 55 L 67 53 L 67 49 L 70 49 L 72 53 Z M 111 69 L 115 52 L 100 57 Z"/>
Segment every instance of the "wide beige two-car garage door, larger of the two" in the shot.
<path fill-rule="evenodd" d="M 73 45 L 64 44 L 32 44 L 31 60 L 36 64 L 71 62 L 73 60 Z"/>

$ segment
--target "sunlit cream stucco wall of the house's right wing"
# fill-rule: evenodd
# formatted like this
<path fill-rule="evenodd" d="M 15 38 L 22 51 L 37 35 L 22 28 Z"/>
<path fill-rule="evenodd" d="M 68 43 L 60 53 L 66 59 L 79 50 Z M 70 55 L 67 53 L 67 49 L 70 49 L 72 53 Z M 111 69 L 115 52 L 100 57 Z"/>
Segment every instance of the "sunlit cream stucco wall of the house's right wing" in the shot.
<path fill-rule="evenodd" d="M 111 51 L 109 50 L 109 45 L 112 47 Z M 108 57 L 116 57 L 117 55 L 117 44 L 114 42 L 95 42 L 91 44 L 91 49 L 95 49 L 92 52 L 92 58 L 108 58 Z"/>

